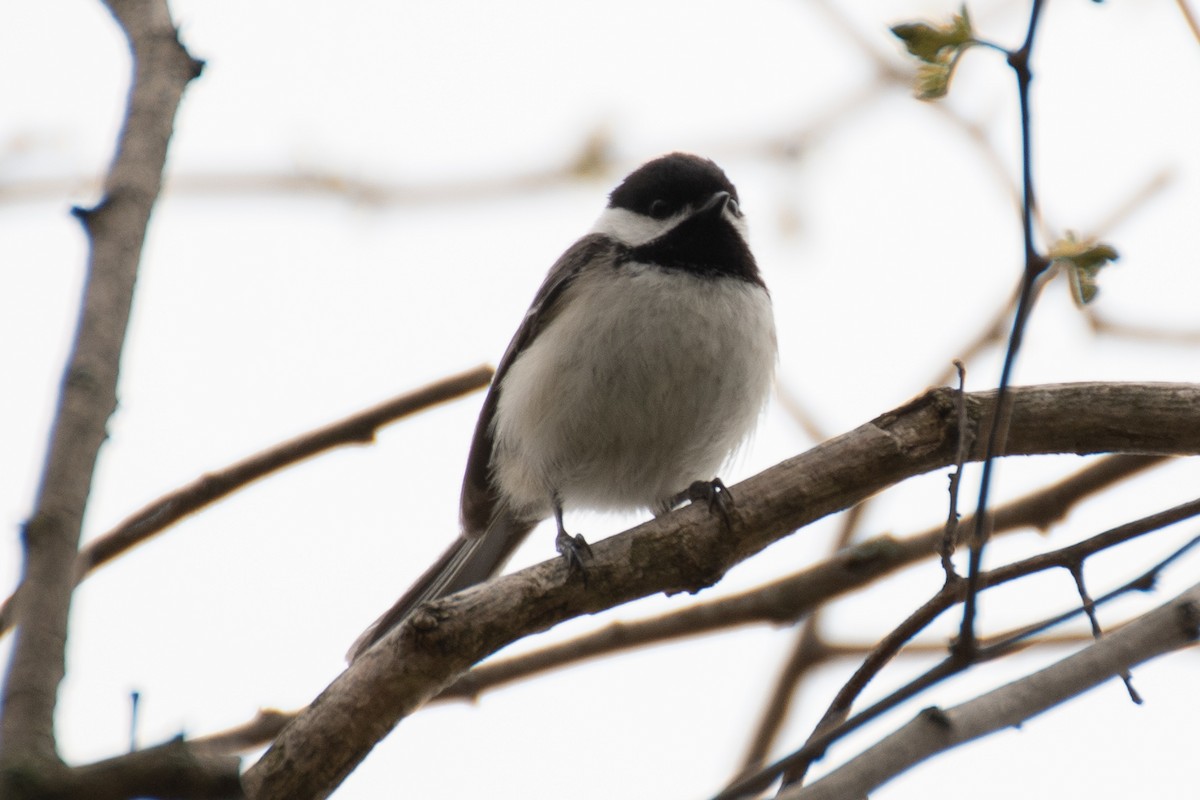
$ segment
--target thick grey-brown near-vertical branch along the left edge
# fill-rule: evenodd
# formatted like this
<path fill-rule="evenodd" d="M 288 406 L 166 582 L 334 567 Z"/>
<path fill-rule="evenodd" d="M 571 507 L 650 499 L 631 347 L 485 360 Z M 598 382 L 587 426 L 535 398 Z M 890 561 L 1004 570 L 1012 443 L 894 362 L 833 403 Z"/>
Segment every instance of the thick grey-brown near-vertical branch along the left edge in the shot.
<path fill-rule="evenodd" d="M 67 612 L 84 506 L 116 373 L 142 242 L 162 180 L 175 109 L 199 74 L 162 0 L 113 0 L 133 50 L 134 77 L 104 196 L 77 210 L 90 241 L 83 308 L 67 360 L 34 513 L 24 529 L 18 632 L 4 685 L 0 788 L 10 770 L 54 769 L 54 706 L 64 676 Z M 0 792 L 4 794 L 4 792 Z"/>

